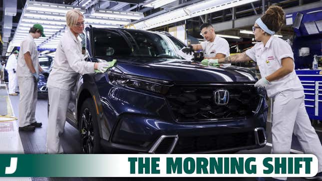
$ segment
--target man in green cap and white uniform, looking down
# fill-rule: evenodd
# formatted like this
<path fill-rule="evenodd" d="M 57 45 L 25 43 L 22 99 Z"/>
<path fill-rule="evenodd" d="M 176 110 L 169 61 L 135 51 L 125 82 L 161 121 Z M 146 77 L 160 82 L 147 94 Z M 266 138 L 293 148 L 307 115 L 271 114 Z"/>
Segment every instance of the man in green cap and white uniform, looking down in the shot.
<path fill-rule="evenodd" d="M 37 103 L 37 82 L 42 68 L 38 61 L 38 49 L 34 39 L 44 37 L 43 27 L 34 24 L 29 34 L 22 40 L 17 63 L 19 85 L 19 131 L 34 131 L 41 123 L 35 119 Z"/>

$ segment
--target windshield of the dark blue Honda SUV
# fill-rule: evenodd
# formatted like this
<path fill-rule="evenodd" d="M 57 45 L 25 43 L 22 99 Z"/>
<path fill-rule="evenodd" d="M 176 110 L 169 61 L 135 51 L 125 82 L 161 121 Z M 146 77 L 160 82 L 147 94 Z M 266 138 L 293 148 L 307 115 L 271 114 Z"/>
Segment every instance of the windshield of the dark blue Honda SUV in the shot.
<path fill-rule="evenodd" d="M 161 33 L 131 29 L 94 29 L 95 56 L 134 56 L 181 59 L 176 53 L 184 45 Z"/>

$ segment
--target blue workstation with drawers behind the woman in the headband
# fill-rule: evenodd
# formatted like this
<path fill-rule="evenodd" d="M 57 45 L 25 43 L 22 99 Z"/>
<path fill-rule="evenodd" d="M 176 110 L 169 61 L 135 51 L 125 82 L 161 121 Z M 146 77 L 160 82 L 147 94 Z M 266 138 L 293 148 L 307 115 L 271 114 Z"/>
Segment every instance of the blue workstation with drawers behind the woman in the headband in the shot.
<path fill-rule="evenodd" d="M 297 18 L 297 15 L 302 17 Z M 295 68 L 312 69 L 313 56 L 322 55 L 322 7 L 287 14 L 287 22 L 288 18 L 289 22 L 293 21 L 296 35 L 293 43 Z M 310 27 L 308 24 L 311 24 L 311 29 L 307 29 Z M 312 29 L 316 29 L 315 33 Z M 309 56 L 299 56 L 302 47 L 310 48 Z M 305 107 L 310 119 L 322 120 L 322 71 L 296 70 L 296 73 L 304 87 Z"/>

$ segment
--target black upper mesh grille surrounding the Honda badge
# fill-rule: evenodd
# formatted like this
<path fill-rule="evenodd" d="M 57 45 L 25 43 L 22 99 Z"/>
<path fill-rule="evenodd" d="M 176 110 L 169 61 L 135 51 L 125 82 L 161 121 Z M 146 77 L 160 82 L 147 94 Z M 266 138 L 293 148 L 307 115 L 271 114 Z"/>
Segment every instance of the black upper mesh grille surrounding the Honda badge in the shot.
<path fill-rule="evenodd" d="M 216 90 L 228 90 L 227 105 L 217 105 Z M 178 122 L 241 119 L 254 115 L 260 95 L 253 85 L 173 86 L 166 99 Z"/>

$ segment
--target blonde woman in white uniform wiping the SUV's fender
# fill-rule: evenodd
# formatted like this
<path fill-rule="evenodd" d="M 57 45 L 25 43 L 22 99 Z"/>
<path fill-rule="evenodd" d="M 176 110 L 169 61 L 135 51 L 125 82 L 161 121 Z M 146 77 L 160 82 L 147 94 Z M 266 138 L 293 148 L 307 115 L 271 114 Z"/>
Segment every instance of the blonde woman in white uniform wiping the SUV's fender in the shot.
<path fill-rule="evenodd" d="M 52 71 L 49 74 L 47 87 L 49 97 L 49 115 L 47 127 L 46 152 L 62 154 L 59 135 L 63 132 L 71 90 L 75 86 L 78 74 L 105 72 L 112 67 L 112 62 L 87 62 L 82 54 L 78 35 L 84 30 L 84 16 L 77 9 L 66 13 L 68 30 L 61 37 L 57 46 Z"/>

